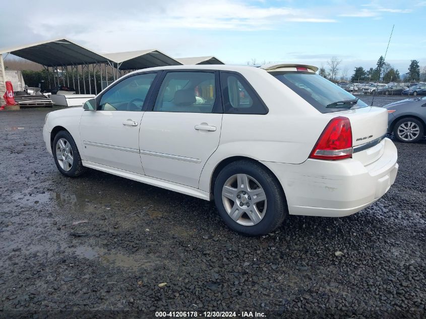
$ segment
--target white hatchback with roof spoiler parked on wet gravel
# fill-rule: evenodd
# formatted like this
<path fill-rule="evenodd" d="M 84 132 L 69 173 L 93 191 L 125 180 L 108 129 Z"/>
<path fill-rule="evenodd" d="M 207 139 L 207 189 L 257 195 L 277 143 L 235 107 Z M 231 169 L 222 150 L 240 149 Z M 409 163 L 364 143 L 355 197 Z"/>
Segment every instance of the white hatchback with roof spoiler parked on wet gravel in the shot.
<path fill-rule="evenodd" d="M 395 181 L 388 112 L 306 65 L 177 66 L 130 73 L 83 107 L 46 115 L 69 177 L 94 168 L 215 201 L 250 235 L 287 214 L 339 217 Z"/>

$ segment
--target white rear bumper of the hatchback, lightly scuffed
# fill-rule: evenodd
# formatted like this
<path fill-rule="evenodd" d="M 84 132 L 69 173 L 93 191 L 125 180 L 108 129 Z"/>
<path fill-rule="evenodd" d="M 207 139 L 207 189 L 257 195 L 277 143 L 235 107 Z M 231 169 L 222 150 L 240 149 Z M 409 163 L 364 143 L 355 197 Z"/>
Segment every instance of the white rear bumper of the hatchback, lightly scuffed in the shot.
<path fill-rule="evenodd" d="M 278 177 L 293 215 L 348 216 L 380 199 L 398 172 L 397 150 L 384 140 L 382 156 L 369 165 L 356 159 L 302 164 L 262 162 Z"/>

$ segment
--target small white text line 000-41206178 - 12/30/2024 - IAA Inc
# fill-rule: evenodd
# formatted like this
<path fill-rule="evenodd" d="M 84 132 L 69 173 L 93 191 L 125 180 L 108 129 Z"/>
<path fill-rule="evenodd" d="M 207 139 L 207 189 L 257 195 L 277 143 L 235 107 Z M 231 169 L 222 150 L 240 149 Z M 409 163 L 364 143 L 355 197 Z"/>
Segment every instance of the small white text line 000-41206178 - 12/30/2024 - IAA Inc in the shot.
<path fill-rule="evenodd" d="M 223 318 L 223 317 L 240 317 L 240 318 L 262 318 L 266 317 L 264 312 L 258 311 L 156 311 L 155 316 L 158 318 L 188 318 L 188 317 L 205 317 L 205 318 Z"/>

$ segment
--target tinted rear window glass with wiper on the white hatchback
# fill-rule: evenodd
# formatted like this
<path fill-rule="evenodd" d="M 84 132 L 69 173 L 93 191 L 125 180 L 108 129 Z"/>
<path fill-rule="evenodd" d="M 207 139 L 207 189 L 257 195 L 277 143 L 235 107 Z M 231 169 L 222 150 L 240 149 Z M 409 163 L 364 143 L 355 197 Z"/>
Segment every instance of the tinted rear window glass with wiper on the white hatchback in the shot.
<path fill-rule="evenodd" d="M 309 102 L 321 113 L 367 107 L 338 85 L 310 72 L 271 72 L 271 75 Z M 350 101 L 347 103 L 337 103 Z"/>

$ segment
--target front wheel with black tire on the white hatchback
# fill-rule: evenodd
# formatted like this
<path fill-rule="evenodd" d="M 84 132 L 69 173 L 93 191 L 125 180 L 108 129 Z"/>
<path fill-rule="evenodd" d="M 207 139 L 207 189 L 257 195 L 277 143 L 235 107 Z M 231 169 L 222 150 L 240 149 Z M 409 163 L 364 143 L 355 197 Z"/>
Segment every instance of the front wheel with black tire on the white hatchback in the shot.
<path fill-rule="evenodd" d="M 76 142 L 67 131 L 59 131 L 52 144 L 53 159 L 60 173 L 77 177 L 84 172 Z"/>

